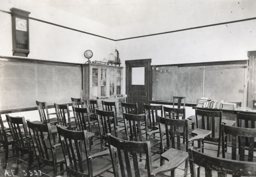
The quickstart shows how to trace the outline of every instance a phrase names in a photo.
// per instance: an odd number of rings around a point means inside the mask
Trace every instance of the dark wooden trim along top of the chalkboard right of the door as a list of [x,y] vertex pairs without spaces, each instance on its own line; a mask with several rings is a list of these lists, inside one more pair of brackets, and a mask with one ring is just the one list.
[[189,66],[212,66],[212,65],[247,65],[248,60],[230,60],[230,61],[218,61],[218,62],[198,62],[198,63],[181,63],[171,65],[151,65],[154,67],[163,66],[177,66],[177,67],[189,67]]

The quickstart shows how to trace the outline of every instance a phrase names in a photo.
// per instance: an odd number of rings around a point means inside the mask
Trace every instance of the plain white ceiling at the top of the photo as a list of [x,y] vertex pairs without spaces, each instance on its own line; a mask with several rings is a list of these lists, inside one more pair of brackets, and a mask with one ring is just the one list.
[[[34,0],[36,1],[36,0]],[[38,0],[81,17],[113,28],[148,22],[177,20],[239,20],[254,17],[249,8],[256,7],[256,0]],[[208,17],[208,18],[207,18]],[[176,24],[178,26],[178,24]]]

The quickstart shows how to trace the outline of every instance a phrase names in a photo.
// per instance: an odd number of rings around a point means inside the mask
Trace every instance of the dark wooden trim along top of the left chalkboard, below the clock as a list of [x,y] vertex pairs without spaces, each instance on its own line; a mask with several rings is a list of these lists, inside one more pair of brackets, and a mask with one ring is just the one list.
[[82,67],[81,63],[56,62],[56,61],[49,61],[49,60],[27,59],[27,58],[12,57],[12,56],[0,56],[0,61]]

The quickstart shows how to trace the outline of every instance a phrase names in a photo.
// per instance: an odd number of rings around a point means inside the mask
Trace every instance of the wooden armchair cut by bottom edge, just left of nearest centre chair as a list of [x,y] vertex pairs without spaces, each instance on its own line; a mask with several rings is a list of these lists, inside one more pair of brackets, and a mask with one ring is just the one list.
[[[95,177],[112,168],[109,150],[91,154],[87,131],[72,131],[57,126],[66,169],[74,177]],[[81,144],[83,146],[81,146]]]

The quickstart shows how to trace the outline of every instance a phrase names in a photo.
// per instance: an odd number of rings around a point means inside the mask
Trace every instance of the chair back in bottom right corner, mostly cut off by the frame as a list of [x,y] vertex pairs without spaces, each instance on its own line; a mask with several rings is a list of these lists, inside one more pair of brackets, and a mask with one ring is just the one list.
[[[196,177],[195,164],[204,167],[205,177],[215,176],[216,174],[212,174],[212,171],[218,172],[218,177],[225,177],[227,174],[236,177],[256,176],[256,163],[212,157],[191,148],[188,151],[191,177]],[[200,174],[197,176],[200,177]]]

